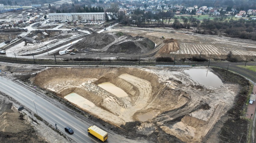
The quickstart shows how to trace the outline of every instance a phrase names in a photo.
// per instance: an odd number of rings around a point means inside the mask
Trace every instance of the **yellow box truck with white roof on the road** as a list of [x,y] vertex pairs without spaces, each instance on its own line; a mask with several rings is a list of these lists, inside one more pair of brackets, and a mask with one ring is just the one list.
[[87,129],[87,132],[101,140],[102,142],[105,142],[108,139],[108,133],[104,130],[100,129],[99,127],[93,125]]

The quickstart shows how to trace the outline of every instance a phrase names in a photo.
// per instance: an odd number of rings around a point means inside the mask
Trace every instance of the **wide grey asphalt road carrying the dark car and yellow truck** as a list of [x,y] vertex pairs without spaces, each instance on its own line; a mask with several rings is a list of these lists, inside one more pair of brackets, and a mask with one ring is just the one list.
[[[87,143],[87,142],[101,142],[96,137],[89,135],[87,133],[87,128],[92,124],[87,123],[81,119],[77,119],[66,111],[56,107],[52,103],[48,102],[44,98],[38,96],[38,94],[28,90],[27,88],[12,82],[8,79],[5,79],[0,76],[0,91],[11,96],[25,107],[32,110],[34,113],[38,113],[40,117],[46,120],[48,123],[55,126],[57,124],[57,128],[73,139],[78,143]],[[35,100],[35,104],[33,102]],[[35,109],[36,108],[36,109]],[[74,130],[74,134],[67,133],[64,128],[69,126]],[[102,127],[101,127],[102,128]],[[129,140],[120,136],[114,132],[111,132],[108,129],[103,130],[108,132],[108,140],[106,142],[137,142],[133,140]]]

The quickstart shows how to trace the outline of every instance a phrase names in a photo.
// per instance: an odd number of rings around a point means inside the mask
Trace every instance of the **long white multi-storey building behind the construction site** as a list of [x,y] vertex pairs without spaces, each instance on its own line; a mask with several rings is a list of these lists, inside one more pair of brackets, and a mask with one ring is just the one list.
[[73,21],[73,20],[101,20],[105,19],[105,13],[49,13],[50,21]]

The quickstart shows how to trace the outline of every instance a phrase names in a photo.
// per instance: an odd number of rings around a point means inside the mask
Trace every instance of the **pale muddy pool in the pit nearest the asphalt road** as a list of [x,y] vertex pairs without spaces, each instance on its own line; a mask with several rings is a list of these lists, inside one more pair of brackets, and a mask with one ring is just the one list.
[[94,107],[95,104],[93,102],[90,102],[89,100],[85,99],[84,97],[76,94],[76,93],[69,93],[68,95],[64,96],[65,99],[67,99],[69,102],[72,102],[74,104],[77,104],[81,108],[86,109],[87,107]]

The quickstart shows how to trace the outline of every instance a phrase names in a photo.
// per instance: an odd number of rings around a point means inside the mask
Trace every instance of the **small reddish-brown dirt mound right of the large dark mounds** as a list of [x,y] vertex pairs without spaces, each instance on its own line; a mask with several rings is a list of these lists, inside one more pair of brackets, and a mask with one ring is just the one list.
[[175,52],[175,51],[178,51],[180,49],[178,41],[176,39],[172,39],[172,38],[171,39],[165,39],[165,40],[163,40],[163,43],[165,43],[165,44],[156,53],[155,57],[170,56],[170,52]]

